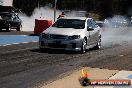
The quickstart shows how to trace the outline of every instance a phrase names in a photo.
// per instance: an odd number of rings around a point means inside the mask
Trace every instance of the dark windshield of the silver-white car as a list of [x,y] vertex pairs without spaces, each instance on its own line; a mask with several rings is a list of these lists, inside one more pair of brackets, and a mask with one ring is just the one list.
[[83,29],[85,27],[85,20],[80,20],[80,19],[59,19],[53,24],[52,27]]

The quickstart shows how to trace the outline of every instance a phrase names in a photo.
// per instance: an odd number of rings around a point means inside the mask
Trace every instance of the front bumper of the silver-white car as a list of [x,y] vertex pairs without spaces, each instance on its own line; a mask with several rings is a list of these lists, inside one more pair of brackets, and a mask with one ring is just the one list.
[[40,48],[80,51],[81,46],[82,46],[82,39],[74,39],[74,40],[43,39],[43,38],[39,39]]

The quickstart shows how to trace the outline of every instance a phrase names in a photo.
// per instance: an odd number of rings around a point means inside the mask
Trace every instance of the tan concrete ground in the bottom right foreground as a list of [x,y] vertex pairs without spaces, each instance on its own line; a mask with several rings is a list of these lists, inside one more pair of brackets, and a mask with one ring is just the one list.
[[[118,71],[99,68],[85,68],[90,79],[130,79],[132,71]],[[47,85],[41,84],[35,88],[132,88],[132,86],[87,86],[82,87],[78,81],[81,70],[76,70],[72,74],[50,82]],[[132,81],[132,79],[130,79]],[[40,87],[41,86],[41,87]]]

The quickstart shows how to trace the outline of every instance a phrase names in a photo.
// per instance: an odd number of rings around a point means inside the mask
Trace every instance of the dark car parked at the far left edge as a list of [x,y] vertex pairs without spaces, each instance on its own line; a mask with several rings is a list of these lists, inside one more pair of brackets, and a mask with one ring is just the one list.
[[14,12],[0,12],[0,30],[16,29],[20,31],[22,28],[22,21],[19,16]]

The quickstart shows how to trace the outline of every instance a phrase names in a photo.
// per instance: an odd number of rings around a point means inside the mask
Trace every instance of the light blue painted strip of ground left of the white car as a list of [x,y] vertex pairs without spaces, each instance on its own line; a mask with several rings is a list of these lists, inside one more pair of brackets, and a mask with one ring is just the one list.
[[8,46],[12,44],[37,42],[38,36],[28,35],[0,35],[0,46]]

